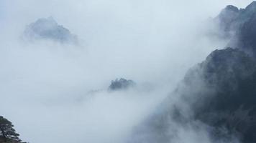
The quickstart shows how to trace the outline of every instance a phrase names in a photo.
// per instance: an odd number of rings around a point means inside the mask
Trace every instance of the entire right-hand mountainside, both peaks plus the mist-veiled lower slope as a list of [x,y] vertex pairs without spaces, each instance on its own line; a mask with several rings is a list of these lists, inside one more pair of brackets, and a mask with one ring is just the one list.
[[255,1],[221,11],[216,24],[231,47],[189,69],[155,114],[134,129],[131,142],[189,142],[180,134],[198,142],[256,142],[255,17]]

